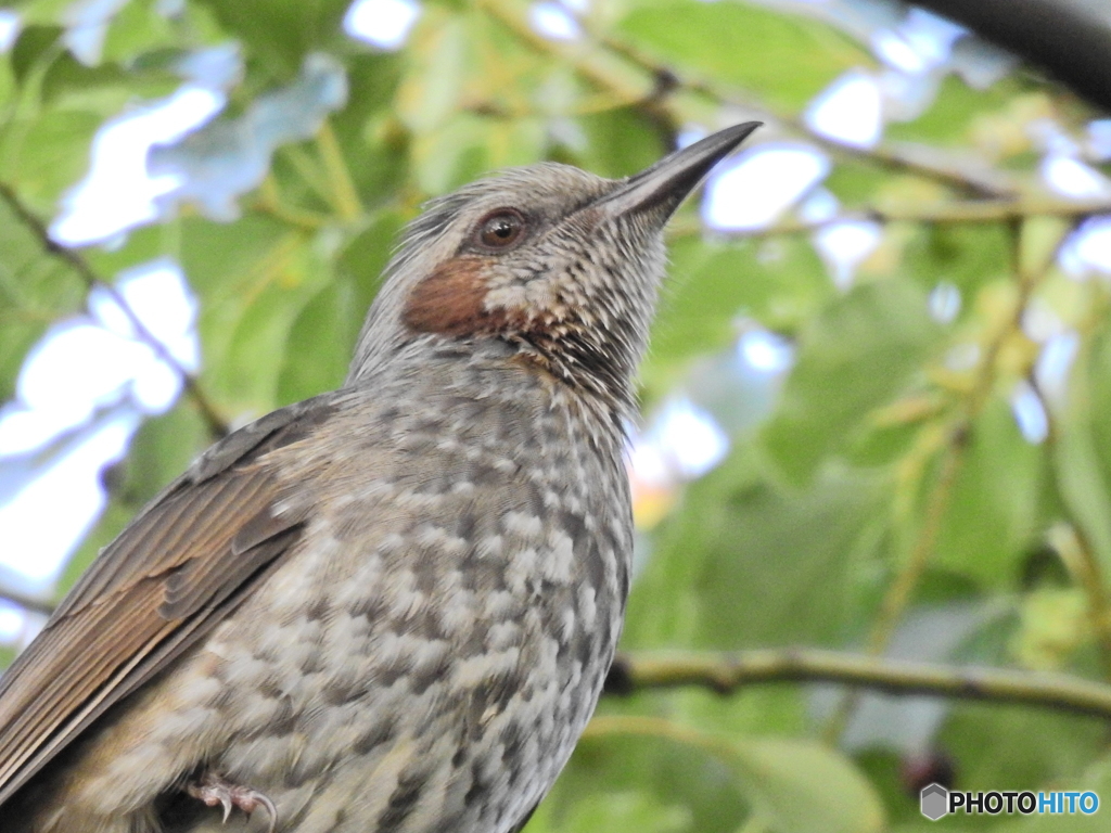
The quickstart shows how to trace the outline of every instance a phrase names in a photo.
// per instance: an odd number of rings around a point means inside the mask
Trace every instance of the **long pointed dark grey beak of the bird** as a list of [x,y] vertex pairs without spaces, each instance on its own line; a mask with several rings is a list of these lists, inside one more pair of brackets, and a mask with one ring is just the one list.
[[664,157],[648,170],[633,174],[593,208],[609,217],[652,212],[662,225],[687,195],[718,162],[724,159],[762,122],[748,121],[719,130],[682,150]]

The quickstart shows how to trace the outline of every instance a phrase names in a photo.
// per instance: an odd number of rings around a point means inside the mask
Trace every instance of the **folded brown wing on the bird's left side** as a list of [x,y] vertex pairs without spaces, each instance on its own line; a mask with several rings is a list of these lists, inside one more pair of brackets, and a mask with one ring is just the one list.
[[0,804],[294,545],[308,512],[272,511],[284,491],[264,455],[311,434],[334,400],[276,411],[214,445],[93,562],[0,676]]

